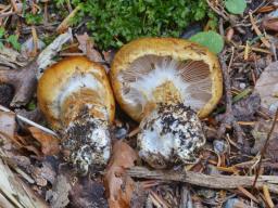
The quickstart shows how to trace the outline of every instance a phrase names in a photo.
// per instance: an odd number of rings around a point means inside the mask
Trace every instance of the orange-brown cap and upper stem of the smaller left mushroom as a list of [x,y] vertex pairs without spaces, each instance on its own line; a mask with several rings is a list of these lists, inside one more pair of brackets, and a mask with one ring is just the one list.
[[67,57],[49,67],[37,94],[39,107],[54,129],[67,126],[85,105],[90,105],[96,117],[104,118],[106,113],[106,120],[114,119],[115,103],[105,69],[84,56]]

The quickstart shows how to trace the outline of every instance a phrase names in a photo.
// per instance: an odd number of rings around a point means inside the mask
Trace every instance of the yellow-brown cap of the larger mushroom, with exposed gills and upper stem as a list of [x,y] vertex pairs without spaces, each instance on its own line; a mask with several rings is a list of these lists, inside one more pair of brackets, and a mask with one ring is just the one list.
[[[170,70],[175,75],[167,77],[167,67],[175,68]],[[160,79],[166,81],[153,89]],[[204,47],[176,38],[141,38],[127,43],[113,60],[111,81],[121,107],[137,121],[155,103],[178,101],[203,118],[223,93],[217,56]]]

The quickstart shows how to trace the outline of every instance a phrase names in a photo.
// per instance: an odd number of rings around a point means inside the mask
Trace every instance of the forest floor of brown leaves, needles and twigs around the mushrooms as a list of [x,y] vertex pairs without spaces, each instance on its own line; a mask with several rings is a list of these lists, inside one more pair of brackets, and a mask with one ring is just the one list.
[[[109,73],[116,50],[99,50],[84,25],[71,26],[71,3],[53,17],[51,1],[31,2],[28,20],[21,1],[0,2],[0,207],[278,207],[276,1],[248,1],[243,14],[231,15],[207,0],[225,41],[224,94],[202,120],[206,144],[194,164],[151,169],[136,152],[138,123],[117,106],[110,164],[86,177],[64,161],[37,106],[38,77],[54,60],[76,55]],[[185,34],[195,32],[192,25]]]

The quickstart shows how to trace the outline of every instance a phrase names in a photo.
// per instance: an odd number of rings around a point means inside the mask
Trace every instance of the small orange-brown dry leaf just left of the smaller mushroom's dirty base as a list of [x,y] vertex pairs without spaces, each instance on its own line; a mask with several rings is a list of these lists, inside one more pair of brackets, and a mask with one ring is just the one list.
[[59,140],[55,136],[46,133],[36,127],[29,127],[28,129],[31,135],[41,144],[41,152],[45,155],[55,155],[59,153]]

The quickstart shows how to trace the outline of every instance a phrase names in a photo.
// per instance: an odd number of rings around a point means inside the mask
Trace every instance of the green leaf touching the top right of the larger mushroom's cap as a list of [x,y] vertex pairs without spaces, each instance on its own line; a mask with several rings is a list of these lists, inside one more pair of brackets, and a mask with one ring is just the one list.
[[208,50],[214,53],[219,53],[224,48],[223,37],[212,30],[198,32],[197,35],[192,36],[190,40],[208,48]]

